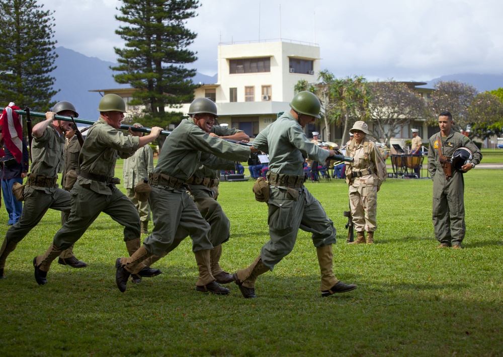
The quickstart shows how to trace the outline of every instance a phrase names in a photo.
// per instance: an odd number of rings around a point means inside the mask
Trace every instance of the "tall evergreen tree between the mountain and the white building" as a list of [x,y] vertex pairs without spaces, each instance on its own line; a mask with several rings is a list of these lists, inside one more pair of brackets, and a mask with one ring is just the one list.
[[164,108],[179,108],[194,98],[196,85],[191,78],[195,69],[186,68],[197,57],[187,47],[196,34],[185,25],[197,16],[197,0],[122,0],[121,16],[126,23],[116,30],[126,41],[126,48],[114,48],[121,73],[114,75],[118,83],[137,88],[131,105],[145,106],[148,126],[165,127],[179,122],[181,113],[166,113]]

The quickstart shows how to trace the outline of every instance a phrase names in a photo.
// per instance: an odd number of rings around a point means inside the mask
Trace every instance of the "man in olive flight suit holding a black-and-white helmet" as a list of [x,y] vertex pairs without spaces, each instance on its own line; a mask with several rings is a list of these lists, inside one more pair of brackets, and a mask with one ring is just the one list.
[[468,137],[452,129],[454,121],[449,112],[439,116],[440,133],[430,137],[428,171],[433,180],[433,226],[437,248],[461,248],[465,237],[465,205],[463,173],[451,168],[446,158],[452,157],[456,149],[466,147],[473,153],[471,163],[463,165],[468,172],[480,163],[482,154]]

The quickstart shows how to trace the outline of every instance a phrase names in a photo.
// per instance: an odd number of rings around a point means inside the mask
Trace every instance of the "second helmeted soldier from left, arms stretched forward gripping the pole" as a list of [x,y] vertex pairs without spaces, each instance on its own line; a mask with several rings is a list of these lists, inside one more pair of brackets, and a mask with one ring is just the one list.
[[[126,105],[115,94],[103,96],[98,110],[100,119],[89,129],[80,150],[80,171],[70,194],[70,216],[45,254],[33,259],[35,280],[39,285],[47,283],[51,262],[61,254],[61,250],[75,243],[101,212],[124,226],[124,241],[130,254],[140,246],[140,216],[133,203],[115,187],[119,180],[112,176],[117,156],[131,156],[138,147],[155,140],[162,128],[153,127],[149,135],[141,138],[125,136],[117,129],[121,127]],[[144,265],[143,268],[144,276],[155,275],[151,269]]]

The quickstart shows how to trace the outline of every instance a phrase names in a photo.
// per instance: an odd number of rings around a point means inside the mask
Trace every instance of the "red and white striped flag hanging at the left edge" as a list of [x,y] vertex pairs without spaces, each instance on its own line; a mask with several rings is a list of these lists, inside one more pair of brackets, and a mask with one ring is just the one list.
[[2,125],[2,134],[4,134],[5,146],[12,152],[16,161],[21,162],[23,158],[23,122],[21,116],[14,110],[21,109],[16,107],[13,102],[5,107],[0,116]]

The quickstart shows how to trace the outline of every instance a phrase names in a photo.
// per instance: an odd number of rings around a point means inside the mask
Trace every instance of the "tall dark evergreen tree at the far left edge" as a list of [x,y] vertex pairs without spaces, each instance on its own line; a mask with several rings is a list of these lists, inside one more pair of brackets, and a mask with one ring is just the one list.
[[55,102],[54,18],[36,0],[0,0],[0,70],[14,74],[0,77],[0,107],[9,102],[44,112]]

